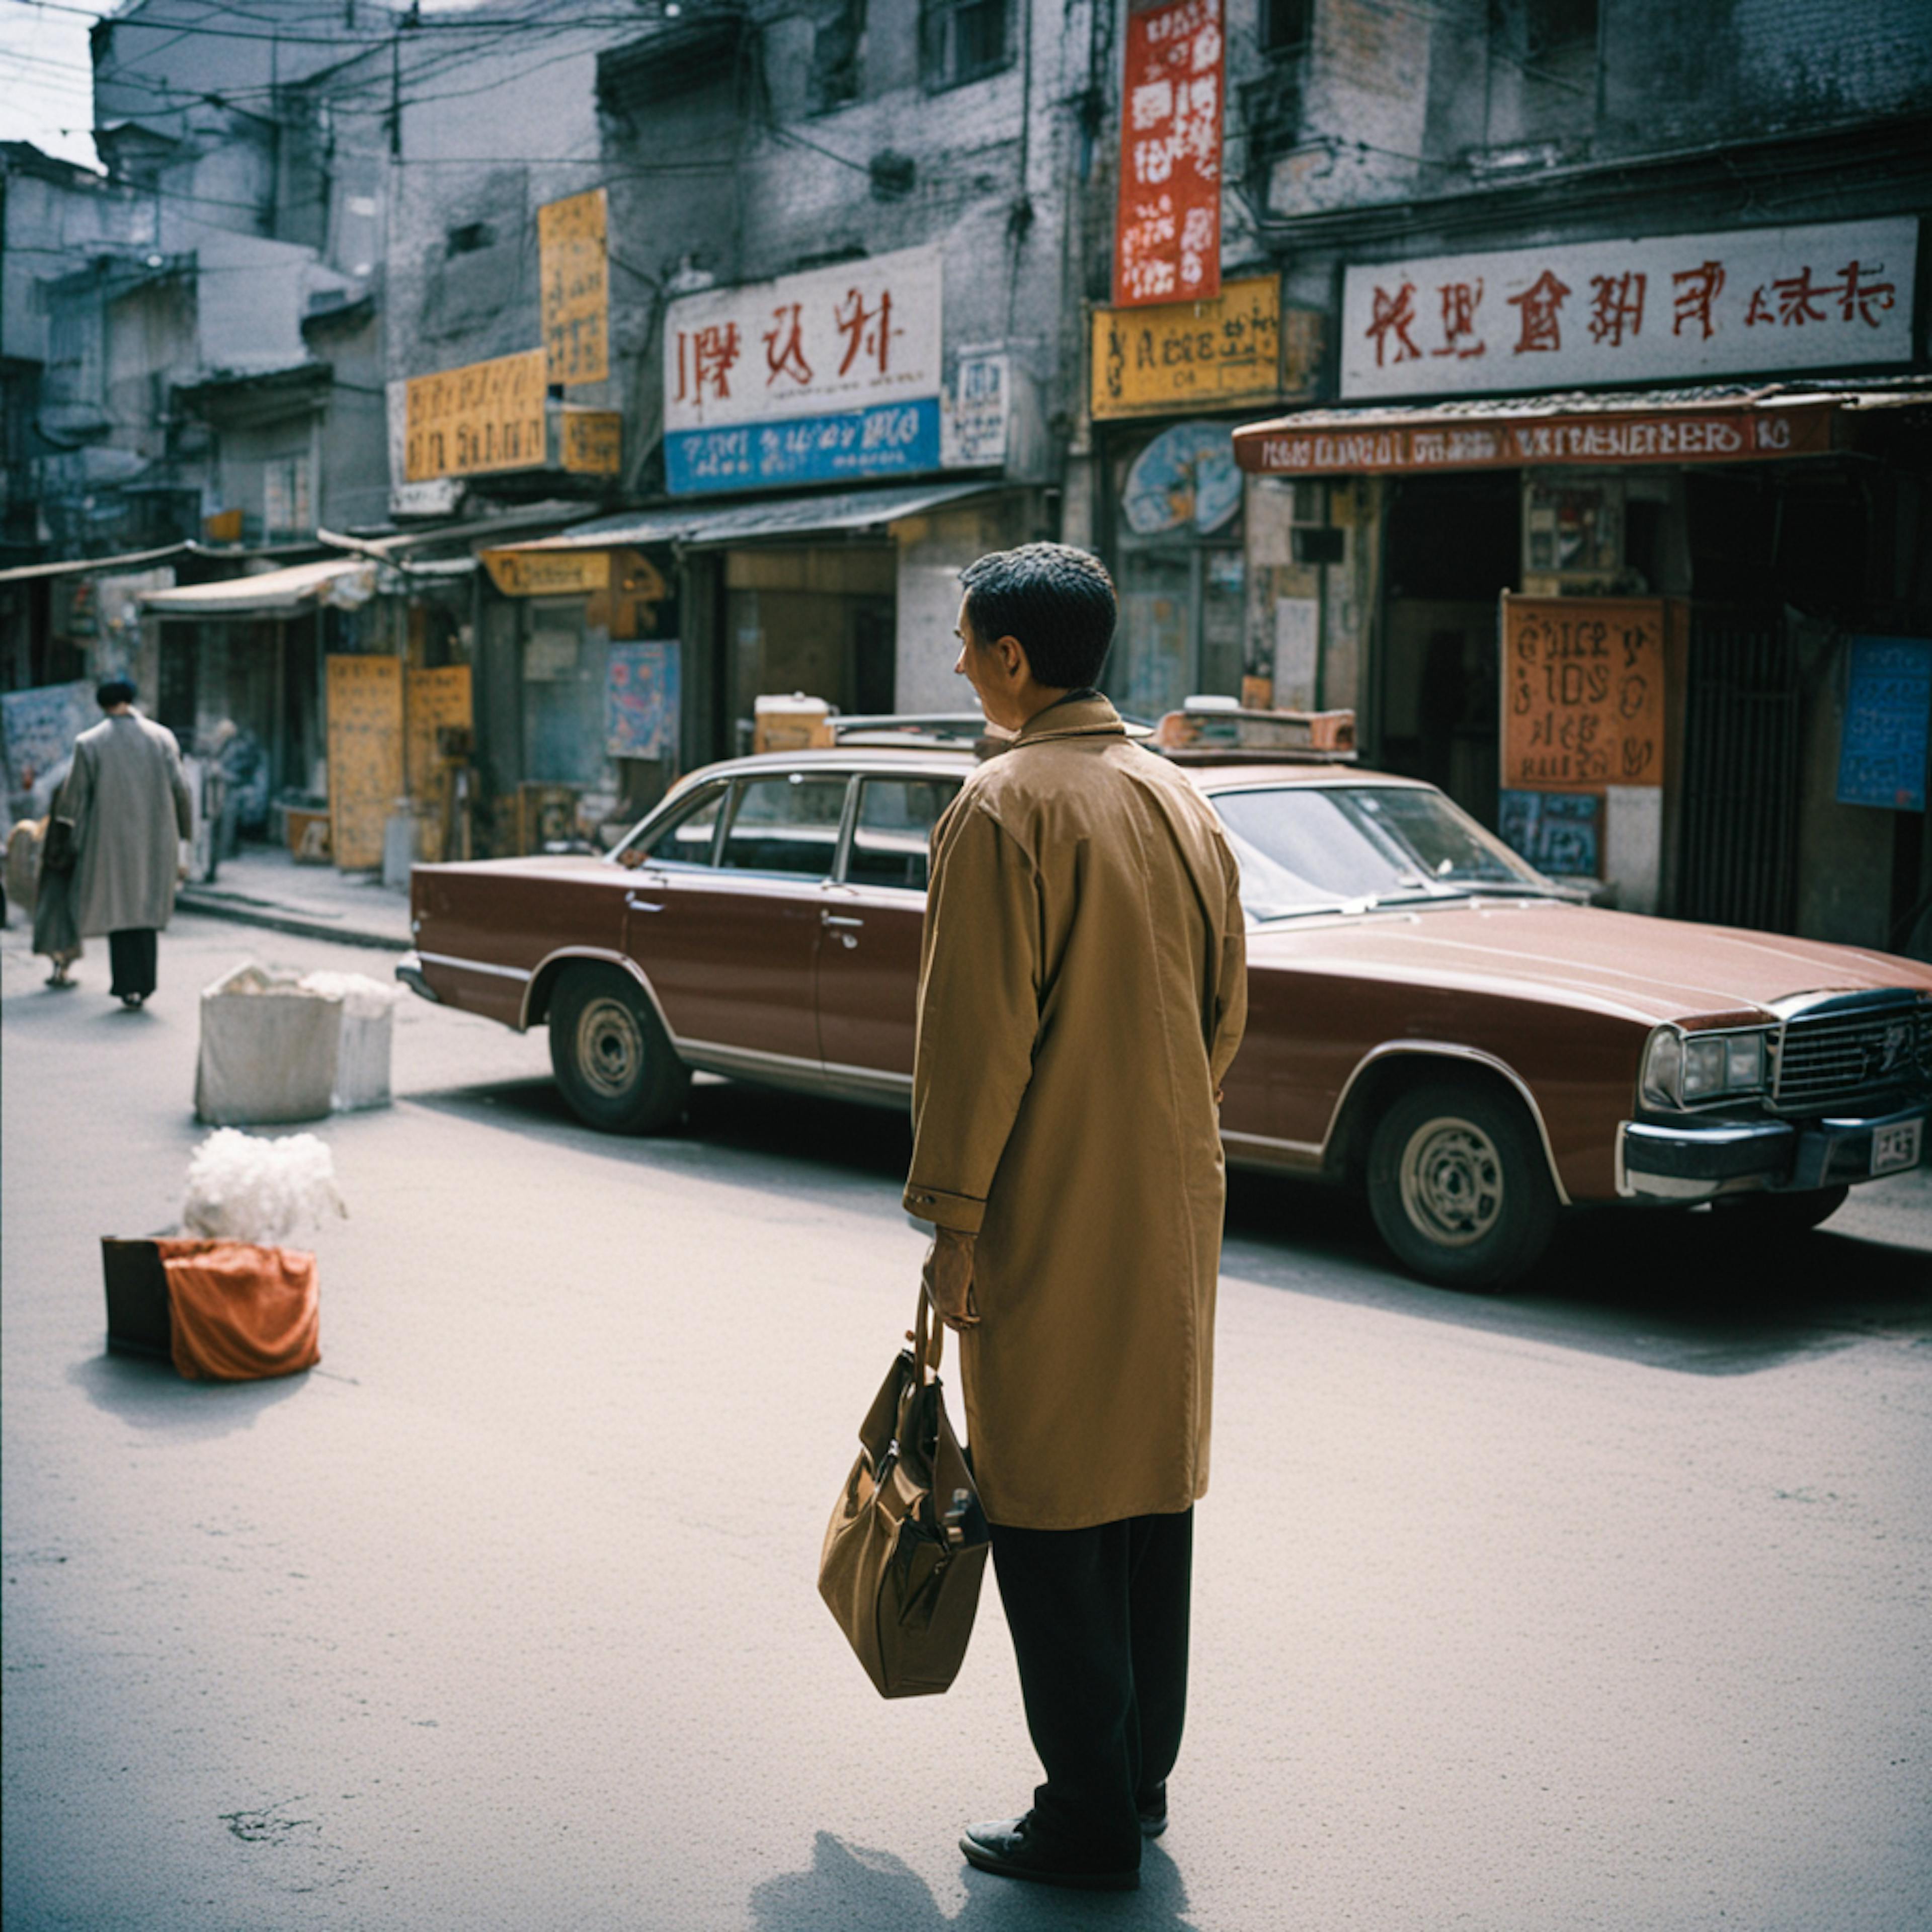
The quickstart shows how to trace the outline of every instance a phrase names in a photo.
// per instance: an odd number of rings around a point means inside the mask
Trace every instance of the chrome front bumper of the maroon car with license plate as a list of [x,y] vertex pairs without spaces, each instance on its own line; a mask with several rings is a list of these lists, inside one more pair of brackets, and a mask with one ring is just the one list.
[[[1625,1121],[1617,1128],[1617,1192],[1638,1200],[1704,1202],[1764,1188],[1804,1192],[1907,1173],[1932,1148],[1932,1105],[1824,1121],[1712,1121],[1660,1126]],[[1917,1159],[1872,1173],[1872,1144],[1888,1128],[1918,1124]],[[1895,1134],[1891,1136],[1897,1138]]]

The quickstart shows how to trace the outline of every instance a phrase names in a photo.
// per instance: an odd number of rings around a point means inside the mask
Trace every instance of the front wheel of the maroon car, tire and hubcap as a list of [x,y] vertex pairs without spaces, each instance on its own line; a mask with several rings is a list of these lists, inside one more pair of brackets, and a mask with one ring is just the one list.
[[1405,1267],[1445,1289],[1505,1289],[1557,1223],[1557,1192],[1522,1103],[1432,1080],[1389,1105],[1368,1146],[1368,1206]]

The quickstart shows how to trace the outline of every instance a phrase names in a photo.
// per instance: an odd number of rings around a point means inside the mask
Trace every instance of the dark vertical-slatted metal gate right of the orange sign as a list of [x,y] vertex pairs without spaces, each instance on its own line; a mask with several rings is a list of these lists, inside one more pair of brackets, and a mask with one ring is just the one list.
[[1799,672],[1783,612],[1692,609],[1677,912],[1789,933]]

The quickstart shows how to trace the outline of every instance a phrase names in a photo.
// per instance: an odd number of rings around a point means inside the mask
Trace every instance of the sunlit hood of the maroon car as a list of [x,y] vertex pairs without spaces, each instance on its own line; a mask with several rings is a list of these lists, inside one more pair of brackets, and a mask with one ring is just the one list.
[[1795,993],[1932,991],[1932,966],[1729,925],[1548,900],[1472,900],[1250,927],[1254,968],[1505,993],[1660,1020],[1756,1020]]

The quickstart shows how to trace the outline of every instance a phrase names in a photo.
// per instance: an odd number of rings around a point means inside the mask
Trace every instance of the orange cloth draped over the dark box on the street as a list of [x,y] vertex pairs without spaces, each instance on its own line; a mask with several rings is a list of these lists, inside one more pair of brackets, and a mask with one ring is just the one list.
[[189,1379],[294,1376],[323,1358],[315,1256],[245,1240],[156,1240],[168,1341]]

